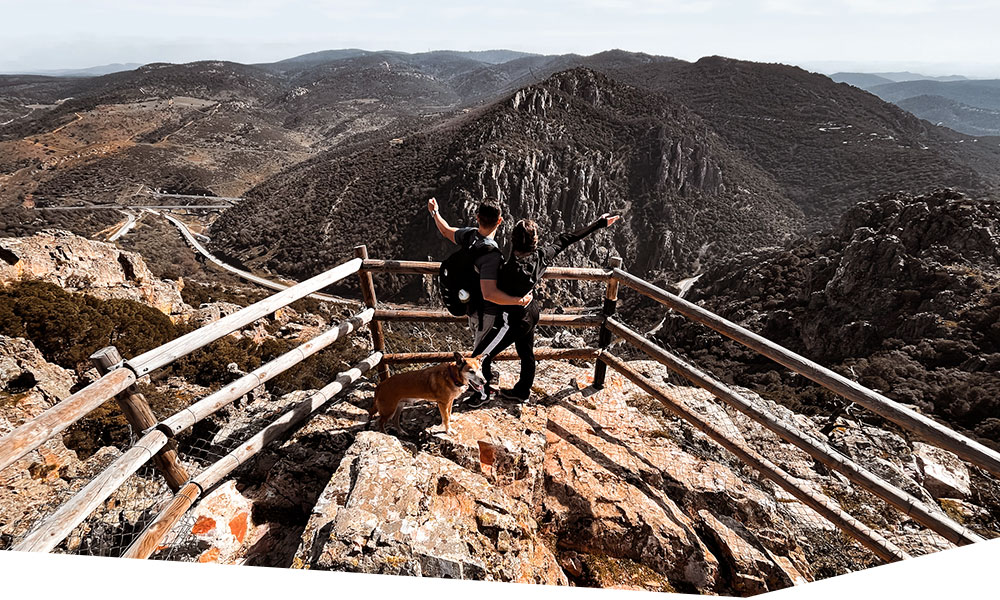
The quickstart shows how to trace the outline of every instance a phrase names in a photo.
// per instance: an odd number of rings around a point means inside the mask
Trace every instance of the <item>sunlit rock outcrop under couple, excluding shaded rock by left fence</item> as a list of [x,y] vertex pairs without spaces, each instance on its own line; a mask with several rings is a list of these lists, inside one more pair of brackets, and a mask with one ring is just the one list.
[[[633,364],[666,376],[658,364]],[[648,396],[630,384],[612,376],[595,395],[575,383],[588,377],[545,364],[541,402],[459,409],[449,436],[436,410],[414,406],[403,419],[422,430],[416,445],[359,434],[320,494],[294,564],[740,594],[857,567],[829,551],[832,524],[748,479],[702,434],[640,408]],[[814,491],[850,489],[704,392],[676,394]],[[911,542],[927,551],[941,540]]]

